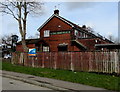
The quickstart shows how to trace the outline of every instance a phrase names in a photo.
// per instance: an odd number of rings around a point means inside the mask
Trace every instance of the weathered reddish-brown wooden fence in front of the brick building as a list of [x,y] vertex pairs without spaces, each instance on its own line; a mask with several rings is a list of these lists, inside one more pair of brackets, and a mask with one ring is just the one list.
[[120,52],[39,52],[36,57],[13,53],[12,63],[32,67],[120,74]]

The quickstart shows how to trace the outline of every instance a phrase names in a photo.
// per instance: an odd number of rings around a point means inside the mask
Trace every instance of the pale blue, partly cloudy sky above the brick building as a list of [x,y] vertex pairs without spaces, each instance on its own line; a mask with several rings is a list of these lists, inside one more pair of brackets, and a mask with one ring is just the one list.
[[[37,29],[52,16],[55,6],[60,16],[79,25],[87,25],[96,33],[108,37],[118,37],[118,2],[44,2],[43,13],[39,16],[28,16],[27,38],[38,33]],[[1,16],[1,15],[0,15]],[[13,17],[0,17],[0,35],[17,34],[18,24]]]

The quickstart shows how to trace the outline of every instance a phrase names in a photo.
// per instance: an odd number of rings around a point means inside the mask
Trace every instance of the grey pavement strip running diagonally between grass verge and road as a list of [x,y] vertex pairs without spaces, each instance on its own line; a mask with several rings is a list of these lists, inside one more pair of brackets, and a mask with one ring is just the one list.
[[16,72],[10,72],[10,71],[2,71],[1,74],[3,77],[20,80],[26,83],[34,84],[41,87],[50,88],[56,91],[62,91],[62,92],[82,92],[82,91],[105,91],[105,92],[113,92],[106,90],[104,88],[98,88],[98,87],[92,87],[88,85],[78,84],[78,83],[72,83],[62,80],[56,80],[56,79],[50,79],[45,77],[38,77],[33,76],[29,74],[23,74],[23,73],[16,73]]

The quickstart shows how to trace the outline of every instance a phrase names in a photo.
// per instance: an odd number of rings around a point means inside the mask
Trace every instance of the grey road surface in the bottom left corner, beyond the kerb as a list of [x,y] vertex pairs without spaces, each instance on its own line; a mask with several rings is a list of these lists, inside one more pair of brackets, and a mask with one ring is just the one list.
[[[1,77],[1,76],[0,76]],[[52,90],[22,81],[2,77],[2,90]]]

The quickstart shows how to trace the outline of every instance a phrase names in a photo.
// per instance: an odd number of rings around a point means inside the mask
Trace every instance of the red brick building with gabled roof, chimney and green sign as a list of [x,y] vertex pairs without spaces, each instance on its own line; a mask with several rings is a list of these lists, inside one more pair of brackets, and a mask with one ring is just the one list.
[[[39,39],[26,39],[29,48],[40,52],[53,51],[94,51],[96,44],[113,44],[99,34],[91,32],[85,25],[82,27],[59,16],[59,10],[38,28]],[[17,51],[23,51],[21,42],[17,43]]]

